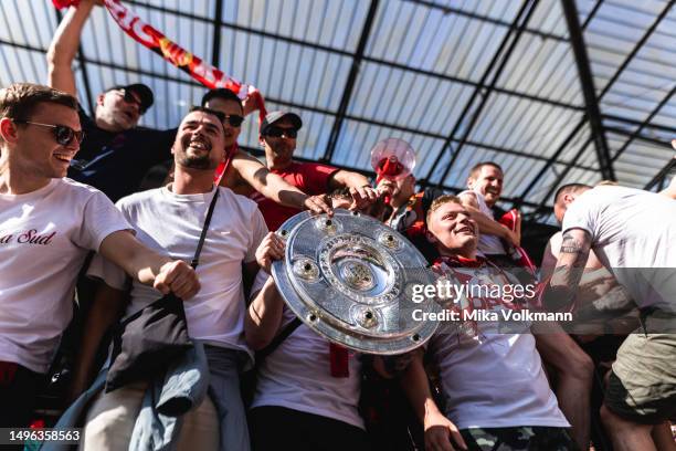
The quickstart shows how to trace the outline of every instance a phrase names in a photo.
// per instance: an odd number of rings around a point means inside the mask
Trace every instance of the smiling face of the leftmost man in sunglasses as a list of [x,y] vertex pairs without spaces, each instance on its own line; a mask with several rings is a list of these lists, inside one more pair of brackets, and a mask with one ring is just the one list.
[[[44,102],[38,105],[27,120],[50,125],[64,125],[82,130],[77,112],[65,105]],[[51,127],[25,124],[15,125],[17,140],[12,144],[12,158],[21,172],[40,179],[65,177],[80,144],[72,139],[67,145],[56,141]]]

